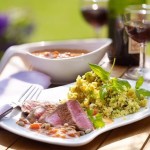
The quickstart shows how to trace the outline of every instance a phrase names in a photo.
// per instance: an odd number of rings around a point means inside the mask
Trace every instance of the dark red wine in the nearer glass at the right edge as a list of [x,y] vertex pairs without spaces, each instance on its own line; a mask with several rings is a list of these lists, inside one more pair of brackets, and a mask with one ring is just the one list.
[[150,41],[150,21],[131,21],[125,24],[128,35],[139,43]]

